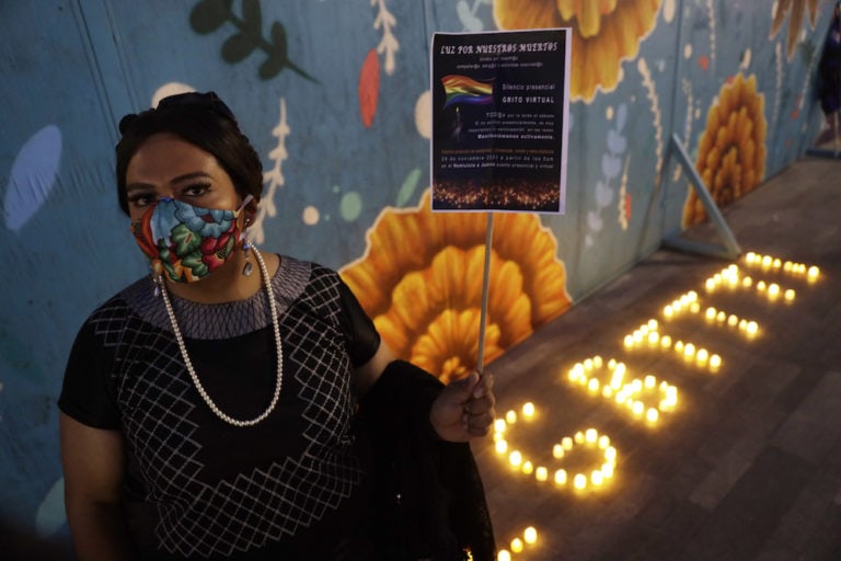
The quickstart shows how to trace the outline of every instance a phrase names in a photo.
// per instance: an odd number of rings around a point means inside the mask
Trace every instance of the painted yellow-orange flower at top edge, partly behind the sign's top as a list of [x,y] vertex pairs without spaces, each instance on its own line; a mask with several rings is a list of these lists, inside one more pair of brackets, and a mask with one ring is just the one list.
[[495,0],[500,30],[572,27],[569,98],[592,101],[597,89],[613,91],[623,60],[634,59],[640,43],[656,25],[663,0]]

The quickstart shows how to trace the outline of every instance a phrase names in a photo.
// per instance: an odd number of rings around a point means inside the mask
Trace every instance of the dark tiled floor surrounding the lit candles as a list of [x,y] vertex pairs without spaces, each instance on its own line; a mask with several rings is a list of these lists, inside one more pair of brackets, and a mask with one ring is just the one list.
[[[510,551],[527,527],[538,535],[511,559],[841,560],[841,161],[804,159],[724,214],[745,253],[816,265],[818,279],[749,266],[744,255],[660,250],[488,366],[499,415],[520,413],[506,454],[491,439],[474,448],[497,542]],[[707,226],[688,236],[717,242]],[[706,279],[731,263],[752,285],[707,291]],[[771,283],[781,287],[775,301]],[[665,306],[691,290],[700,311],[667,319]],[[707,320],[708,307],[756,321],[758,334]],[[649,319],[657,344],[646,335],[626,346]],[[684,358],[678,340],[718,354],[721,368]],[[675,386],[677,407],[652,423],[569,381],[571,368],[594,356],[603,365],[585,369],[590,378],[609,385],[614,358],[627,366],[625,379],[649,374]],[[660,391],[648,390],[647,407],[659,407]],[[526,402],[537,408],[532,420]],[[557,469],[572,479],[604,461],[586,439],[553,457],[563,436],[587,428],[610,438],[614,476],[584,491],[556,485]],[[511,467],[512,449],[545,467],[549,481]]]

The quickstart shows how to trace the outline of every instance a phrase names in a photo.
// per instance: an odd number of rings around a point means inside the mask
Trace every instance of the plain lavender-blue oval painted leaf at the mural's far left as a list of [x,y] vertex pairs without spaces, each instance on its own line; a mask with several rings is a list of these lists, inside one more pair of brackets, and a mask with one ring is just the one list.
[[3,218],[10,230],[20,230],[49,197],[61,159],[61,131],[49,125],[30,138],[12,163],[5,188]]

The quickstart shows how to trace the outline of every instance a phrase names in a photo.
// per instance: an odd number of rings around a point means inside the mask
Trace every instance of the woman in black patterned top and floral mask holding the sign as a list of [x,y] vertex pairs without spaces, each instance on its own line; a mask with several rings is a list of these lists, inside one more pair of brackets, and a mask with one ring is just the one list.
[[262,165],[216,94],[119,128],[117,196],[152,272],[68,360],[79,558],[492,558],[466,444],[493,422],[491,377],[443,388],[393,359],[335,272],[247,242]]

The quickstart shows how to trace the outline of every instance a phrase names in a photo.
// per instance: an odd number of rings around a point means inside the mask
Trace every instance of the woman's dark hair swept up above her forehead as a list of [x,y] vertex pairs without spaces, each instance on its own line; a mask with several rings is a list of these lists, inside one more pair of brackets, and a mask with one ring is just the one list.
[[260,201],[263,163],[242,134],[231,110],[214,92],[182,93],[162,99],[157,107],[128,114],[119,122],[117,142],[117,199],[128,214],[126,171],[128,162],[152,135],[171,133],[212,154],[231,178],[237,193]]

